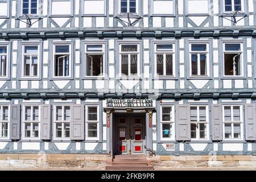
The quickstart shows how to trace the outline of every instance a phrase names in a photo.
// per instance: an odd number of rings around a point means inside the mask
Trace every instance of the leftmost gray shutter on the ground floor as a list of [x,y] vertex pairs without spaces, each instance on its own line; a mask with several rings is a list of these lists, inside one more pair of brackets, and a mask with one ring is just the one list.
[[10,106],[10,139],[20,139],[20,105],[13,104]]

